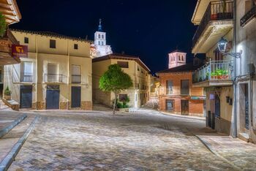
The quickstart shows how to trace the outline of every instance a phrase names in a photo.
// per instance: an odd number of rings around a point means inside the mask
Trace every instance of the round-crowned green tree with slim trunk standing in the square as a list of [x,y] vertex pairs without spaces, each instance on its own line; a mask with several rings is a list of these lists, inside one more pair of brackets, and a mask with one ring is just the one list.
[[121,91],[132,87],[132,85],[131,77],[129,77],[127,73],[123,72],[118,64],[108,66],[108,71],[105,72],[102,77],[100,77],[99,89],[102,91],[113,92],[113,94],[115,94],[113,115],[115,115],[118,95],[121,93]]

